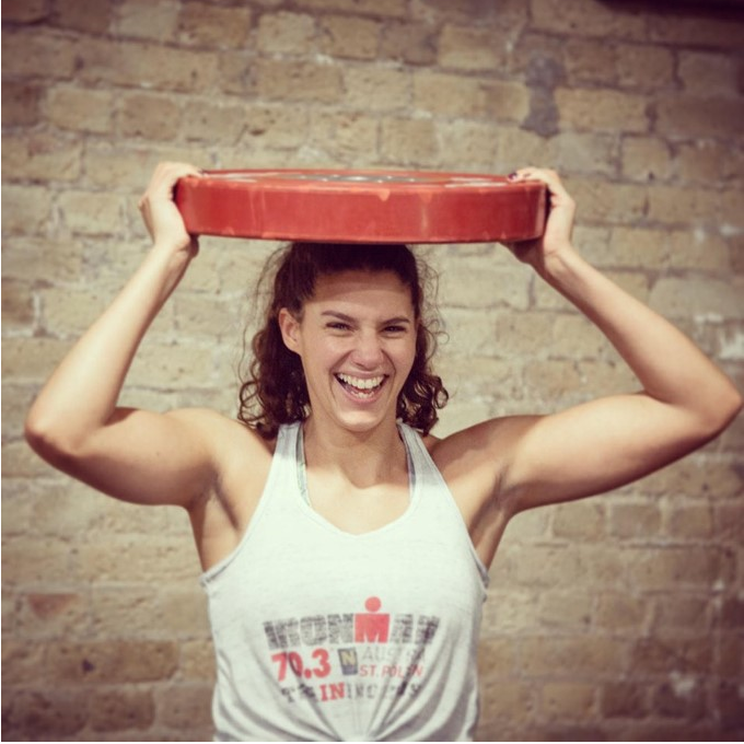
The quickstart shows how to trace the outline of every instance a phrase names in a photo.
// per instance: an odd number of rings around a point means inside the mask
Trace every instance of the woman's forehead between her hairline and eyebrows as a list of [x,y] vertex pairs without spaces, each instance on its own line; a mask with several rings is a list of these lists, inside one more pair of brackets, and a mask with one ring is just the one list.
[[349,270],[322,275],[307,304],[414,312],[410,288],[394,271]]

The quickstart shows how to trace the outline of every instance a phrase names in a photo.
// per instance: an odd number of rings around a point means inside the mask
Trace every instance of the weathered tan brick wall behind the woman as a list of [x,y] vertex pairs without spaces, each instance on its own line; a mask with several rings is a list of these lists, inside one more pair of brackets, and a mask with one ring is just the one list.
[[[744,20],[699,4],[5,0],[4,739],[211,736],[186,518],[96,495],[21,434],[147,251],[136,200],[159,160],[555,166],[582,252],[742,380]],[[202,240],[127,404],[235,410],[270,247]],[[451,336],[440,433],[633,385],[503,248],[426,253]],[[486,606],[480,739],[744,734],[743,440],[740,420],[641,483],[514,521]]]

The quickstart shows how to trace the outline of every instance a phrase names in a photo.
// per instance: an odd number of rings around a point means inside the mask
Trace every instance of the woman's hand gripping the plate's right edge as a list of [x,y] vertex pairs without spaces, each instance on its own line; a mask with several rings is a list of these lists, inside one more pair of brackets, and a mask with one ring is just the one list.
[[504,245],[538,274],[544,275],[546,264],[567,251],[573,251],[571,233],[576,201],[566,190],[555,171],[537,167],[520,168],[509,176],[512,184],[524,181],[542,181],[548,188],[548,219],[543,235],[530,241],[504,243]]

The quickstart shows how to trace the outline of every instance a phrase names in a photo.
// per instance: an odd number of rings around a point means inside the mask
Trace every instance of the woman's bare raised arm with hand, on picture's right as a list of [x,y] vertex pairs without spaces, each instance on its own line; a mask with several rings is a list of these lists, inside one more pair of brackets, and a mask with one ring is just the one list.
[[555,173],[516,177],[544,181],[551,211],[542,240],[510,247],[600,328],[640,386],[498,427],[510,453],[501,492],[521,510],[616,488],[684,456],[729,425],[742,397],[684,334],[577,254],[574,204]]

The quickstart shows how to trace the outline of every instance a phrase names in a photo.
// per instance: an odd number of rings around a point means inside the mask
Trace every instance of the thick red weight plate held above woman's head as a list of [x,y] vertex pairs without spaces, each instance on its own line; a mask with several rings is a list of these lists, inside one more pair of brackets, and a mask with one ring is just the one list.
[[208,171],[182,178],[194,234],[358,243],[480,243],[543,233],[546,189],[421,171]]

